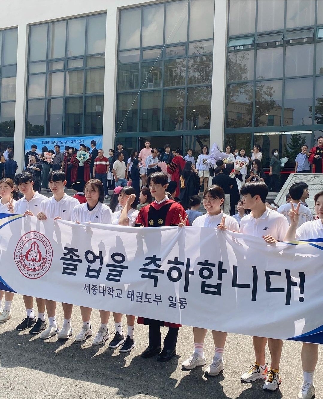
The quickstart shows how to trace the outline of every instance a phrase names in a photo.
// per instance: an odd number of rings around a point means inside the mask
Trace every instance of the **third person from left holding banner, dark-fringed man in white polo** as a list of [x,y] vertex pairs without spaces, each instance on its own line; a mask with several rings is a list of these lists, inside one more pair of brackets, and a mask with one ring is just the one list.
[[[48,175],[48,185],[53,193],[51,198],[46,198],[40,204],[40,212],[37,213],[38,220],[63,219],[71,221],[72,211],[79,205],[77,199],[69,197],[64,192],[66,185],[65,174],[61,170],[52,170]],[[59,339],[67,339],[73,334],[71,328],[72,304],[63,303],[64,323],[60,330],[56,322],[56,302],[46,299],[46,310],[49,320],[49,327],[40,334],[42,340],[58,334]]]

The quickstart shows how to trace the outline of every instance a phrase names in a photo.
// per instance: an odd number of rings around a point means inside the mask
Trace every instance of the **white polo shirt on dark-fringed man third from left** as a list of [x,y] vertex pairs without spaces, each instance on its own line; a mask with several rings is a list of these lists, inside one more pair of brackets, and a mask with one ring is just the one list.
[[76,198],[64,194],[60,201],[56,201],[54,196],[44,199],[40,204],[39,211],[44,212],[49,219],[60,216],[63,220],[71,221],[72,211],[77,205],[79,205],[79,201]]

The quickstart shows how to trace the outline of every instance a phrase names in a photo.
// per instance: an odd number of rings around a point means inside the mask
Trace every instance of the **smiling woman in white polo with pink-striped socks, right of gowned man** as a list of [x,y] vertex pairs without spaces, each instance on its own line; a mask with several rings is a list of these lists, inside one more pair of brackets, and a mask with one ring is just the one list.
[[[197,217],[192,226],[196,227],[214,227],[220,230],[239,231],[238,222],[229,215],[221,211],[221,205],[224,203],[224,191],[220,186],[210,186],[206,188],[203,198],[203,206],[206,209],[206,215]],[[187,217],[187,216],[186,216]],[[183,227],[183,223],[179,223]],[[194,352],[193,356],[182,363],[182,367],[187,370],[194,369],[197,366],[204,366],[206,358],[204,356],[203,345],[206,336],[206,328],[193,327],[194,334]],[[226,332],[212,331],[215,354],[212,363],[205,370],[206,375],[218,375],[223,369],[223,351],[226,343]]]

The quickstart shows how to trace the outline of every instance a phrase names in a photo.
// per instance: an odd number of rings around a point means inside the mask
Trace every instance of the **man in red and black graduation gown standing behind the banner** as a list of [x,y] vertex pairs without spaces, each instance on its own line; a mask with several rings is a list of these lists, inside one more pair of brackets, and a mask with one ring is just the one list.
[[[136,224],[140,224],[143,227],[161,227],[172,224],[178,225],[180,223],[180,216],[182,220],[185,219],[186,213],[182,205],[165,196],[165,191],[168,187],[168,178],[164,173],[155,172],[148,176],[147,185],[149,186],[151,195],[155,197],[155,201],[140,209]],[[188,225],[187,221],[186,224]],[[142,358],[151,358],[158,354],[158,361],[167,361],[176,355],[176,342],[180,324],[143,317],[138,317],[138,323],[149,325],[149,345],[141,354]],[[164,348],[161,350],[162,326],[168,327],[168,333],[164,339]]]

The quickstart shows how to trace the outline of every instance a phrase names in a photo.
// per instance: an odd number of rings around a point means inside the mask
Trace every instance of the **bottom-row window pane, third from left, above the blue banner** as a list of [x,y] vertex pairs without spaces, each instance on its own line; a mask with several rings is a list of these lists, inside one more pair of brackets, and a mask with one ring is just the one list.
[[65,99],[65,135],[82,134],[83,97]]

